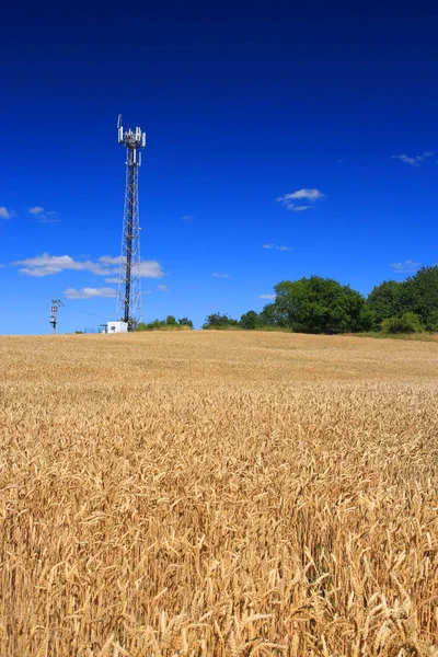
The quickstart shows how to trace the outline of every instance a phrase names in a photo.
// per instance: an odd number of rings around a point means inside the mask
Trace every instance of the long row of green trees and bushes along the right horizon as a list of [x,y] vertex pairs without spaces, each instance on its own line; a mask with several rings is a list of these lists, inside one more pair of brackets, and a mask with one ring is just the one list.
[[422,267],[404,281],[385,280],[365,298],[332,278],[283,280],[261,312],[240,320],[207,316],[203,328],[290,330],[296,333],[414,333],[438,331],[438,266]]

